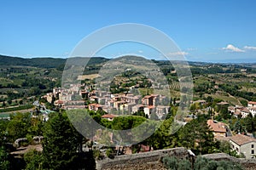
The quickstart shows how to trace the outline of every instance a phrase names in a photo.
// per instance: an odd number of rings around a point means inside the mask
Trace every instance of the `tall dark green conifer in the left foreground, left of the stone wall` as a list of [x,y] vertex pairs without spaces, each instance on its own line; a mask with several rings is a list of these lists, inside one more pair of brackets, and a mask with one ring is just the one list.
[[45,124],[44,168],[73,169],[79,141],[66,114],[55,113]]

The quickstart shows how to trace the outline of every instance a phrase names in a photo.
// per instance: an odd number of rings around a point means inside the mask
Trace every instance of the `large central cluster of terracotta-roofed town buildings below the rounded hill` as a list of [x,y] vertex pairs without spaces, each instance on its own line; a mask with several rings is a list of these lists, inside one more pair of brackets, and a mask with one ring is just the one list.
[[[84,88],[85,87],[85,88]],[[111,94],[101,90],[89,90],[88,86],[71,85],[70,88],[54,88],[52,93],[43,96],[49,103],[62,109],[89,109],[90,111],[105,111],[113,115],[131,115],[143,111],[150,118],[154,113],[159,119],[169,111],[168,98],[160,94],[146,96],[126,94]],[[76,99],[74,96],[81,96]]]

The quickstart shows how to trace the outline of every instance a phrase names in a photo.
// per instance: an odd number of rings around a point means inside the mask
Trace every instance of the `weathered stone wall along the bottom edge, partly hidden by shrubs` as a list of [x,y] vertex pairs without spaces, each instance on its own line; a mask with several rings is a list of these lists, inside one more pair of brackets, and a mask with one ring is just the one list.
[[[172,148],[167,150],[155,150],[145,153],[116,156],[114,159],[105,159],[96,161],[97,170],[166,170],[161,163],[161,158],[164,156],[176,156],[180,159],[189,158],[191,153],[188,150],[181,148]],[[247,170],[256,169],[256,159],[238,159],[224,153],[208,154],[204,157],[216,161],[234,161],[240,163]]]

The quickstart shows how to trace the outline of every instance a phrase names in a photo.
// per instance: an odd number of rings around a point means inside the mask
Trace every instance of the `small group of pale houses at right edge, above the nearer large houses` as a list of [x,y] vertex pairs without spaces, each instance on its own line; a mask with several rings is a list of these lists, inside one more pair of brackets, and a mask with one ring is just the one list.
[[252,116],[256,115],[256,102],[249,101],[247,103],[247,107],[236,105],[236,106],[229,106],[228,110],[236,117],[241,116],[241,118],[247,117],[249,114]]

